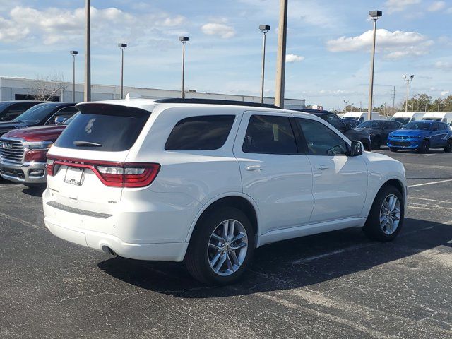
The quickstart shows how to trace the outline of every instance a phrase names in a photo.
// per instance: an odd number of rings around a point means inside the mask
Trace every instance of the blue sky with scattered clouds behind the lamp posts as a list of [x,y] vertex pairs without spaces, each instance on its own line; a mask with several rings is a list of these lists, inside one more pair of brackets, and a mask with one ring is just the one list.
[[[0,0],[0,75],[83,82],[83,0]],[[267,34],[265,95],[275,90],[279,0],[92,0],[92,83],[117,85],[126,42],[124,85],[180,88],[182,44],[191,90],[259,95],[262,33]],[[285,97],[343,109],[367,108],[371,10],[377,21],[374,104],[410,93],[452,93],[452,0],[289,0]]]

